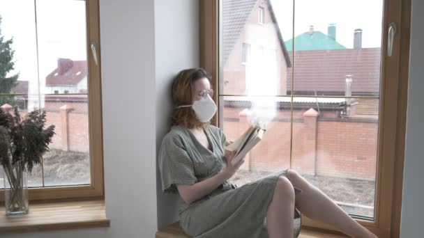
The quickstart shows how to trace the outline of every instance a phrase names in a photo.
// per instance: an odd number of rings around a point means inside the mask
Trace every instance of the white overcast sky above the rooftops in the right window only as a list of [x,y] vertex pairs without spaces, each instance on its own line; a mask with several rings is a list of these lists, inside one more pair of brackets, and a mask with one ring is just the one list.
[[[282,38],[293,38],[293,1],[271,0]],[[327,34],[336,24],[336,40],[347,48],[354,46],[354,30],[363,30],[362,46],[381,47],[383,0],[295,0],[294,35],[309,31]],[[296,42],[295,42],[296,44]]]

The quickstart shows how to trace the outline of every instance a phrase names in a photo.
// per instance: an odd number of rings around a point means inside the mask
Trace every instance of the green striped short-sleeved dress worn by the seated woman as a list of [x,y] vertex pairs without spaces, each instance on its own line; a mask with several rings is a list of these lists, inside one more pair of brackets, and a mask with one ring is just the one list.
[[[178,193],[176,184],[195,184],[225,168],[225,135],[218,127],[205,128],[211,150],[197,141],[185,127],[174,126],[160,146],[159,168],[162,190]],[[266,212],[279,176],[287,170],[268,175],[236,188],[230,182],[220,184],[208,196],[187,205],[179,197],[179,217],[183,230],[192,237],[249,238],[268,237]],[[294,188],[295,193],[301,192]],[[301,230],[301,214],[294,209],[294,237]]]

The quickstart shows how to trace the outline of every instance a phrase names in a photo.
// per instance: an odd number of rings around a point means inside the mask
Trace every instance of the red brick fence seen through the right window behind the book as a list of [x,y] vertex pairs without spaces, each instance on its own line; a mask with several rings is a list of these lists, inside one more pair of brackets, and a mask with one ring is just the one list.
[[[234,141],[248,127],[243,109],[225,107],[223,127]],[[294,111],[292,168],[301,173],[373,180],[377,162],[377,122],[304,117]],[[268,124],[264,139],[246,157],[243,168],[282,170],[290,166],[289,111],[280,111]],[[327,113],[326,117],[333,115]],[[339,120],[339,121],[338,121]]]

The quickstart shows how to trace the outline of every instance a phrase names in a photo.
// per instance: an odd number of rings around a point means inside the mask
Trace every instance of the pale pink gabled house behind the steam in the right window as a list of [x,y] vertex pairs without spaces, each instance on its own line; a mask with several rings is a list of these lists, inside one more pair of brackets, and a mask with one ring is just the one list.
[[223,93],[285,95],[291,63],[271,2],[223,1],[222,10]]

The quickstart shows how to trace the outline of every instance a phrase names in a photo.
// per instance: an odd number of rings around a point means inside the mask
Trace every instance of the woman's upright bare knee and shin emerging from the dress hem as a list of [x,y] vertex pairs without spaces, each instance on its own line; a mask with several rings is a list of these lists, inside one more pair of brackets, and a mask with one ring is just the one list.
[[270,238],[292,238],[294,217],[294,189],[287,177],[279,177],[273,200],[266,214]]

